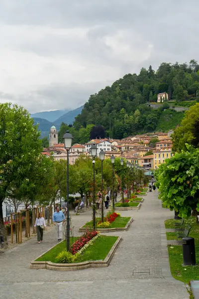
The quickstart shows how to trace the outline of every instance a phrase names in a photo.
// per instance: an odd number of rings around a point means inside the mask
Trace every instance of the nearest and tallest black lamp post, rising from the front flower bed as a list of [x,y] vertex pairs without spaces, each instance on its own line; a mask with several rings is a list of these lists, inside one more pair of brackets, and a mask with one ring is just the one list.
[[66,245],[67,251],[70,250],[70,215],[69,215],[69,150],[71,149],[73,136],[66,131],[63,136],[64,146],[67,151],[67,230],[66,230]]

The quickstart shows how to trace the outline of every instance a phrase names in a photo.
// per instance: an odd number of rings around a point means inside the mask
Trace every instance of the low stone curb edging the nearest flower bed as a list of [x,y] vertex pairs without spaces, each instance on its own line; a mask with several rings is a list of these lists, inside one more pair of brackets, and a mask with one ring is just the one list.
[[[88,268],[95,268],[95,267],[108,267],[110,264],[110,261],[114,255],[115,250],[117,249],[119,243],[121,242],[122,238],[118,237],[117,241],[114,243],[112,248],[110,249],[109,253],[107,254],[106,258],[102,261],[86,261],[82,263],[73,263],[73,264],[60,264],[60,263],[52,263],[52,262],[39,262],[39,261],[33,261],[31,262],[29,268],[30,269],[47,269],[47,270],[54,270],[54,271],[75,271],[75,270],[83,270]],[[55,245],[56,246],[56,245]],[[54,248],[53,246],[52,248]],[[49,250],[51,250],[50,248]],[[49,251],[48,250],[48,251]],[[46,251],[46,252],[48,252]],[[45,253],[46,253],[45,252]],[[44,255],[43,253],[42,255]],[[38,258],[40,258],[42,255],[40,255]],[[36,260],[38,259],[36,258]]]

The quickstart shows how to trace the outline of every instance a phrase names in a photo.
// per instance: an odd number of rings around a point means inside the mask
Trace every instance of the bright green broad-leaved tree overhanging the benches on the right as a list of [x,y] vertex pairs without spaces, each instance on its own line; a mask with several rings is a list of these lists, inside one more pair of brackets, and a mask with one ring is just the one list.
[[183,218],[199,211],[199,149],[188,149],[166,159],[155,171],[159,198]]

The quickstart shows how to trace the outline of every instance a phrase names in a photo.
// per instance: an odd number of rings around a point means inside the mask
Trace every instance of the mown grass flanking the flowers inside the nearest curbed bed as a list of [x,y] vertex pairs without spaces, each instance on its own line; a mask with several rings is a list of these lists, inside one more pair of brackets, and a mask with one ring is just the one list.
[[[89,246],[87,249],[85,249],[85,251],[83,251],[83,254],[75,262],[79,263],[85,261],[104,260],[108,252],[116,242],[117,238],[118,237],[115,236],[100,236],[93,243],[93,245]],[[50,261],[52,263],[56,263],[56,256],[64,249],[66,249],[65,241],[59,243],[57,246],[49,250],[40,259],[37,259],[36,261]]]

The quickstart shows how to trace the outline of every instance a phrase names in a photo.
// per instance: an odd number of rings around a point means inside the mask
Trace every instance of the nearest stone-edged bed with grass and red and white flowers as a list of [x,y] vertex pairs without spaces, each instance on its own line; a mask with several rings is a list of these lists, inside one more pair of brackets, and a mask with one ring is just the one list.
[[[71,241],[72,238],[70,238],[70,243]],[[80,254],[82,248],[75,255],[66,251],[66,243],[62,241],[31,262],[30,268],[71,271],[90,267],[107,267],[120,241],[121,237],[100,236],[98,234],[85,245],[83,254]],[[92,250],[87,245],[92,245]],[[62,261],[57,264],[59,253],[64,255],[63,259],[60,256],[60,261]]]

